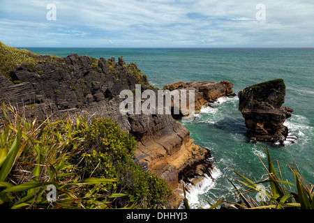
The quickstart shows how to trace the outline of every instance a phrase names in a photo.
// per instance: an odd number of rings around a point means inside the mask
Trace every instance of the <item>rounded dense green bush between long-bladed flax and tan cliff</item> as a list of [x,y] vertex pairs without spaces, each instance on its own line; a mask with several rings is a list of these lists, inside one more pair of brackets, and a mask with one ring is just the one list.
[[158,208],[166,204],[170,190],[165,180],[150,171],[142,171],[133,162],[137,143],[131,134],[121,131],[109,118],[96,118],[84,132],[84,139],[84,173],[117,180],[104,185],[103,193],[128,194],[117,200],[117,206],[136,202],[140,208]]

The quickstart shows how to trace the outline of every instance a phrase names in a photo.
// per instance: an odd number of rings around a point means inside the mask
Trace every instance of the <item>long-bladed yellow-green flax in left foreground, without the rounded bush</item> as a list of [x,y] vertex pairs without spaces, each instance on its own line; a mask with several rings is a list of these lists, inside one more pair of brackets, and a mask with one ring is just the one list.
[[[10,114],[7,113],[7,109]],[[50,122],[26,121],[3,104],[0,131],[0,206],[6,208],[110,208],[125,194],[98,194],[98,187],[116,180],[82,178],[77,171],[80,132],[87,121],[64,118]],[[47,186],[54,185],[56,201],[47,201]],[[47,196],[47,195],[46,195]]]

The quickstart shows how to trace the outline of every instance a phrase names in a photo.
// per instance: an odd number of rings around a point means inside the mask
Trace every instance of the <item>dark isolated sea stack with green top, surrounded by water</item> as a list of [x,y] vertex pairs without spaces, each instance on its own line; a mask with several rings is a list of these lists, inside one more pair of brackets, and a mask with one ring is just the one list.
[[239,91],[239,111],[245,118],[248,139],[283,146],[288,129],[283,123],[293,109],[283,106],[285,83],[275,79]]

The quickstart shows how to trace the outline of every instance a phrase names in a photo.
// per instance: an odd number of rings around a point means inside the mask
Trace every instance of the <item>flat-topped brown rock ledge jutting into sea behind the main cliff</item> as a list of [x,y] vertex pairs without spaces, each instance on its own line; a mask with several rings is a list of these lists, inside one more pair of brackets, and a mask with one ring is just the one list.
[[[232,82],[222,81],[222,82],[174,82],[171,84],[167,84],[164,86],[164,89],[169,91],[177,91],[178,94],[182,90],[189,92],[194,91],[195,94],[195,103],[194,103],[194,112],[199,113],[203,107],[207,107],[209,102],[215,102],[218,98],[234,96],[234,92],[232,90]],[[188,95],[187,95],[187,105],[189,105]],[[172,110],[173,110],[172,103]],[[174,118],[181,118],[182,116],[188,116],[190,114],[190,109],[187,107],[186,109],[182,109],[180,107],[179,114],[173,114]]]

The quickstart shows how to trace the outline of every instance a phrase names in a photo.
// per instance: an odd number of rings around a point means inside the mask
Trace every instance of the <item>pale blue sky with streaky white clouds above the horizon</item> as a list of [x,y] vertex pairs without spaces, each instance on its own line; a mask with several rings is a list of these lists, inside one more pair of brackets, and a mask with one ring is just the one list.
[[314,47],[313,0],[0,0],[13,47]]

